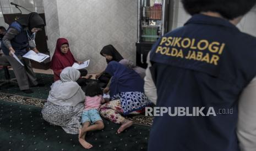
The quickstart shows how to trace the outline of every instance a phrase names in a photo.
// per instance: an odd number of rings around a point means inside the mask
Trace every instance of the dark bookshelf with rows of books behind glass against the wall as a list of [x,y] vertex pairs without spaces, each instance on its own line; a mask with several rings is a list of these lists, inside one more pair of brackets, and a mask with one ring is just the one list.
[[137,66],[146,68],[152,44],[166,33],[168,3],[168,0],[138,0]]

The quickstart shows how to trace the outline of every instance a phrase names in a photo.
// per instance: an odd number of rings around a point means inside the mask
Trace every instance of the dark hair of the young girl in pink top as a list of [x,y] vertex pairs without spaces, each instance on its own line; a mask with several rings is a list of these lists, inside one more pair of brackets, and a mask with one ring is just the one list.
[[85,87],[85,95],[94,97],[94,96],[99,96],[103,95],[103,91],[100,88],[100,85],[96,82],[91,82],[86,85]]

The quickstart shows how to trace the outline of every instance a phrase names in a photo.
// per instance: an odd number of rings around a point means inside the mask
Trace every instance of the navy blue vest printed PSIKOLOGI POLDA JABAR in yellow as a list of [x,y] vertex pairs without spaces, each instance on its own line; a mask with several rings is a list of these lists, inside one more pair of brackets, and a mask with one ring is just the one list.
[[238,151],[238,98],[256,75],[256,38],[198,14],[161,37],[150,61],[156,107],[213,108],[216,116],[155,117],[148,150]]

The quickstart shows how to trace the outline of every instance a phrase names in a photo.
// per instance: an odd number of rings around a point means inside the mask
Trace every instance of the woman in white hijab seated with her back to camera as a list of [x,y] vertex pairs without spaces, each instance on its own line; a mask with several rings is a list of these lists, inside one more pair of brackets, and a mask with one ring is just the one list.
[[51,86],[42,109],[42,117],[50,124],[62,126],[67,133],[78,134],[85,100],[84,91],[75,82],[80,77],[80,72],[67,67],[63,69],[60,77]]

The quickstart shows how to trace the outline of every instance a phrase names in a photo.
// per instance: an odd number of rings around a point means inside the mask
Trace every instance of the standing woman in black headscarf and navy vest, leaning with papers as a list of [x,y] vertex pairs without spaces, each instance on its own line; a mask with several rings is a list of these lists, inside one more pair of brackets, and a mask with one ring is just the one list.
[[[36,81],[35,73],[32,70],[29,59],[22,56],[27,53],[29,49],[39,53],[35,45],[35,33],[42,30],[45,26],[43,19],[37,13],[30,13],[25,18],[19,18],[17,21],[10,24],[6,34],[2,39],[2,50],[6,55],[10,65],[12,65],[15,77],[17,78],[20,90],[25,93],[32,93],[31,86],[44,86]],[[22,66],[13,55],[18,56],[19,60],[23,62]]]

